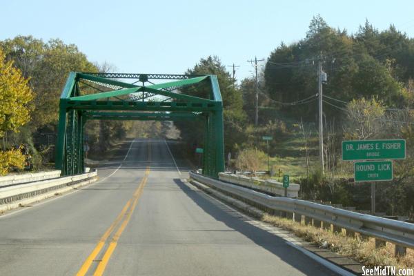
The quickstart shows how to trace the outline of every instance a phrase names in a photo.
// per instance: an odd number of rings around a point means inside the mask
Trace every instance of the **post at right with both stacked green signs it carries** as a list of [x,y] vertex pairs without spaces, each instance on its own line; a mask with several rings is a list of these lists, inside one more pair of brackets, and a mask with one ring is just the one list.
[[405,139],[342,141],[342,160],[355,161],[355,182],[371,181],[371,214],[375,215],[375,181],[393,180],[393,161],[384,159],[405,158]]

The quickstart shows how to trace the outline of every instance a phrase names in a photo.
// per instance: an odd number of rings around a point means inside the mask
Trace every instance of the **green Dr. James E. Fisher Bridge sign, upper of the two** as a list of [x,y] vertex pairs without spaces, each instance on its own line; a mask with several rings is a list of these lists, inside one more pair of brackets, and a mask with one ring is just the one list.
[[342,160],[405,159],[404,139],[342,141]]

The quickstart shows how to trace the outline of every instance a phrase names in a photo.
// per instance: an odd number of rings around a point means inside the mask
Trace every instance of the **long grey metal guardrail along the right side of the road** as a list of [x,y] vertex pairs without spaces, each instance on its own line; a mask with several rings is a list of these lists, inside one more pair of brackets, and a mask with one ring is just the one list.
[[[345,228],[351,233],[360,233],[365,236],[374,237],[380,241],[391,242],[397,246],[414,248],[414,224],[355,213],[301,199],[271,197],[270,195],[259,193],[255,190],[228,184],[195,172],[190,172],[189,174],[191,179],[238,199],[242,199],[249,204],[290,213],[292,214],[291,217],[295,214],[296,221],[300,221],[303,215],[305,216],[305,221],[306,219],[313,219],[314,224],[315,221],[319,221],[319,227],[320,221],[323,221],[324,226],[325,224],[332,224],[334,229],[335,227],[337,229],[339,228],[339,230]],[[329,228],[331,228],[331,225],[329,225]]]

